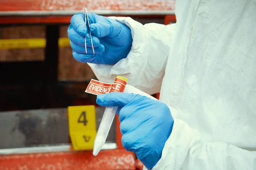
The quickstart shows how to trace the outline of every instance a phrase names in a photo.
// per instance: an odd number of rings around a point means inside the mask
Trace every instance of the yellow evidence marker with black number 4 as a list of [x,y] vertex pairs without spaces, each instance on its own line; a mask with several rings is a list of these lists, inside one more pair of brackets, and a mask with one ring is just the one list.
[[74,150],[92,150],[97,133],[95,106],[69,106],[67,111]]

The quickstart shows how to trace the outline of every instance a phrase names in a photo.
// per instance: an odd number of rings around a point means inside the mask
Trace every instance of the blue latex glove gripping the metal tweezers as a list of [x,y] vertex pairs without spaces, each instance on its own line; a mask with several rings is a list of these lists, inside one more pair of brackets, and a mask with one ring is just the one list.
[[[88,24],[84,22],[83,13],[77,13],[71,18],[67,30],[73,57],[79,62],[113,65],[127,57],[131,50],[131,29],[108,17],[87,13],[90,21],[90,31],[93,39],[93,54]],[[88,34],[89,33],[89,34]],[[86,36],[87,54],[84,40]]]

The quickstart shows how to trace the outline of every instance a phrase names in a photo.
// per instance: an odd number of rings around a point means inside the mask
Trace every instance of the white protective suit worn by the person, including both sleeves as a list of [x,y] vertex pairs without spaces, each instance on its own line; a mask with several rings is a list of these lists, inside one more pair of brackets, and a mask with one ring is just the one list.
[[[154,170],[256,170],[256,0],[176,0],[177,23],[131,28],[128,57],[89,64],[161,92],[174,126]],[[111,80],[110,80],[111,79]]]

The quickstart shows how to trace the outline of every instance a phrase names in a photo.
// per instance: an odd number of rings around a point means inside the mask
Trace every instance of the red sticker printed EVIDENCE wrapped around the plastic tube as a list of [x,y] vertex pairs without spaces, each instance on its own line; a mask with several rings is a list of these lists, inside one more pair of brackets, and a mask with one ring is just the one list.
[[107,94],[111,92],[123,92],[125,90],[127,82],[123,79],[116,77],[113,84],[100,82],[95,79],[91,79],[89,85],[86,88],[86,93],[90,94]]

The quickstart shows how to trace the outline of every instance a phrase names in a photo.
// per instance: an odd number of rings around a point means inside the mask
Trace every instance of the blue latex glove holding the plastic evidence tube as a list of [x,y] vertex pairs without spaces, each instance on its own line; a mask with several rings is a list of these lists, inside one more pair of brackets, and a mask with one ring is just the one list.
[[100,94],[96,102],[103,107],[119,107],[123,146],[151,170],[172,132],[174,122],[168,106],[145,96],[119,92]]

